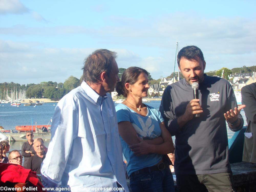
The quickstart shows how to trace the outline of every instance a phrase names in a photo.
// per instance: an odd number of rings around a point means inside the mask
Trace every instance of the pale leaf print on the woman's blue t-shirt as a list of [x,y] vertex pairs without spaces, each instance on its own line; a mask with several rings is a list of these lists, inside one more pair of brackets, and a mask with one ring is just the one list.
[[151,118],[147,118],[146,122],[144,123],[143,119],[138,117],[138,121],[140,122],[140,125],[142,127],[142,130],[140,127],[138,127],[136,124],[132,123],[132,126],[134,127],[135,131],[140,134],[142,137],[146,138],[156,138],[159,135],[156,135],[153,131],[155,129],[155,125],[152,124]]

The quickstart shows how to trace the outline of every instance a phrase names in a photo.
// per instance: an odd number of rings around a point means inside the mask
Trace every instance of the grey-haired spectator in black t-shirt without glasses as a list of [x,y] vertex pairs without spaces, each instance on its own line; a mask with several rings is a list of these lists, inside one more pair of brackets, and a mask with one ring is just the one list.
[[35,155],[31,156],[28,160],[28,169],[35,171],[36,174],[40,173],[41,163],[45,159],[45,146],[44,141],[41,138],[37,138],[34,141],[33,148],[36,152]]

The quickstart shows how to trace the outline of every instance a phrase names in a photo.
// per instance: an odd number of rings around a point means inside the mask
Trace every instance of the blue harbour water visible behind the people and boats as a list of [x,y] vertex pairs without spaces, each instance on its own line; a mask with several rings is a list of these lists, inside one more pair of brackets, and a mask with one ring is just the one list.
[[[161,101],[149,101],[144,102],[156,109],[159,109]],[[116,103],[114,103],[117,105]],[[10,103],[2,103],[0,106],[0,125],[4,127],[4,129],[15,129],[17,125],[31,125],[32,118],[33,124],[35,122],[37,125],[47,125],[51,124],[50,119],[54,115],[54,109],[57,103],[45,103],[43,105],[34,106],[24,106],[21,104],[19,107],[11,106]],[[241,114],[244,119],[244,125],[246,125],[246,117],[244,115],[244,111],[241,110]],[[228,139],[230,139],[234,132],[232,132],[227,126]],[[175,137],[173,137],[175,140]],[[16,141],[10,143],[10,151],[16,149],[21,150],[23,142]],[[49,141],[45,141],[45,146],[48,147]]]

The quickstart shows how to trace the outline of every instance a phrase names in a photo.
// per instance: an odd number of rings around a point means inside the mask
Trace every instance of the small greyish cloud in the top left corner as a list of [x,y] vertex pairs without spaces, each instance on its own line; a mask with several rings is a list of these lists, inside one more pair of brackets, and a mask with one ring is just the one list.
[[22,14],[28,12],[29,9],[25,7],[19,0],[1,0],[0,14]]

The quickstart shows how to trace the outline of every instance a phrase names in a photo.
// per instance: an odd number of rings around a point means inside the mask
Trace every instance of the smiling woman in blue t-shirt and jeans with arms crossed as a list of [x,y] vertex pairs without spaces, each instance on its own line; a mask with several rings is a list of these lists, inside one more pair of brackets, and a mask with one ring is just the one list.
[[174,151],[172,137],[160,112],[142,103],[148,88],[148,72],[139,67],[126,69],[116,84],[118,95],[126,97],[115,109],[130,186],[133,192],[174,191],[173,176],[163,158]]

